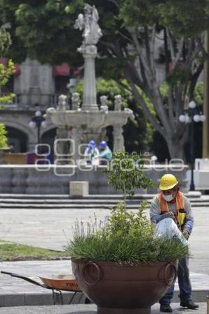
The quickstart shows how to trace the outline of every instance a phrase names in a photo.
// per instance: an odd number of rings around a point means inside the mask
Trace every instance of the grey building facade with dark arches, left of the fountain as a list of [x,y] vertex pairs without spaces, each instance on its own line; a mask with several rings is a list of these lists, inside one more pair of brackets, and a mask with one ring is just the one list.
[[[5,63],[1,61],[0,63]],[[29,122],[35,112],[45,113],[47,107],[56,107],[60,94],[68,94],[66,82],[70,79],[70,67],[64,63],[52,67],[38,61],[26,59],[17,65],[18,71],[11,77],[4,92],[14,92],[12,104],[5,104],[0,110],[0,122],[4,123],[8,144],[14,153],[34,151],[38,142],[37,128],[30,128]],[[40,128],[40,141],[53,149],[56,128],[47,121],[46,128]]]

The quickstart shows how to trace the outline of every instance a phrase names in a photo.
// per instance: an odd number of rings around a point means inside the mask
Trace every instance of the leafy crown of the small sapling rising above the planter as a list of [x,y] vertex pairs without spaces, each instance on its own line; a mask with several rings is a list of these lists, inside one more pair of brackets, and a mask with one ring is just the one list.
[[126,204],[127,195],[133,197],[135,188],[155,186],[154,182],[144,175],[144,164],[138,154],[128,154],[125,151],[115,151],[111,163],[104,172],[108,183],[115,190],[122,190]]

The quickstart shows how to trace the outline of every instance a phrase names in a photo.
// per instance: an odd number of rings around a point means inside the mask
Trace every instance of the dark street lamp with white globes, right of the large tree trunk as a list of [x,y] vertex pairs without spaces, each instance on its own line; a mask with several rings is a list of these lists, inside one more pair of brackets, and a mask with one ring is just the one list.
[[206,116],[199,112],[196,103],[192,100],[189,103],[189,108],[185,110],[185,114],[180,114],[178,117],[182,123],[190,123],[190,163],[191,163],[191,181],[190,190],[195,190],[194,186],[194,122],[204,122]]

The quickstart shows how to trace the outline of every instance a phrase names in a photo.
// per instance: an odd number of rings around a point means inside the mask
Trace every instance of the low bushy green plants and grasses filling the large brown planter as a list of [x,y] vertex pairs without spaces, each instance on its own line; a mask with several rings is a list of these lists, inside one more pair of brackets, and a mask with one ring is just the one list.
[[139,262],[171,262],[189,255],[188,246],[178,239],[162,239],[146,218],[146,202],[141,202],[139,211],[125,209],[124,203],[111,209],[107,221],[97,219],[87,223],[77,221],[74,238],[67,251],[75,260],[100,260],[126,264]]

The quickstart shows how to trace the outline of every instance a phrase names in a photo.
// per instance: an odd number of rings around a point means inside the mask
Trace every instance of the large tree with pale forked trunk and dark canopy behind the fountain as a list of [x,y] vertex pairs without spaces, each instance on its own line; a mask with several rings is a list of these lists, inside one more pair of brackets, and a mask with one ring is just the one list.
[[[170,156],[183,158],[188,126],[180,124],[178,116],[186,100],[193,98],[208,58],[202,33],[208,29],[209,0],[88,2],[98,8],[104,34],[98,45],[102,56],[98,60],[100,73],[114,79],[126,77],[137,103],[167,142]],[[22,55],[26,51],[42,62],[68,61],[77,66],[82,57],[75,51],[82,36],[73,29],[73,24],[83,7],[83,0],[1,0],[0,18],[4,22],[10,18],[15,38],[18,36],[24,43]],[[159,62],[164,64],[164,79],[169,86],[167,103],[157,80]],[[153,104],[155,114],[141,90]]]

